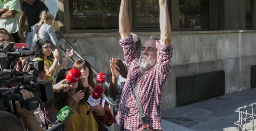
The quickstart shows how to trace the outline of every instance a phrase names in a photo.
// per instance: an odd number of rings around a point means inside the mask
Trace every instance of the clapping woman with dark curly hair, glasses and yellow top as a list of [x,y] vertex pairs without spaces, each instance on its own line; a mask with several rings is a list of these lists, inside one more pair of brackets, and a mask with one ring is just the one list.
[[62,64],[59,65],[59,51],[58,49],[55,49],[52,51],[52,46],[48,40],[40,39],[36,41],[35,46],[33,47],[33,50],[35,50],[35,58],[33,61],[36,60],[44,60],[45,63],[45,72],[46,72],[46,79],[47,81],[53,82],[53,77],[55,75],[56,71],[59,71],[61,68],[64,68],[67,66],[67,60],[69,57],[73,56],[74,51],[71,50],[68,52],[68,49],[66,51],[66,55],[64,59],[62,60]]

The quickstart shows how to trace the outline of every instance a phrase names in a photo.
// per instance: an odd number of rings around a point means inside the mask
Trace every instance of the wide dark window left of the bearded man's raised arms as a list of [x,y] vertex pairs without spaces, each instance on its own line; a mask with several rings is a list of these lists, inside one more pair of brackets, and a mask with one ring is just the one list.
[[69,0],[71,30],[118,29],[121,0]]

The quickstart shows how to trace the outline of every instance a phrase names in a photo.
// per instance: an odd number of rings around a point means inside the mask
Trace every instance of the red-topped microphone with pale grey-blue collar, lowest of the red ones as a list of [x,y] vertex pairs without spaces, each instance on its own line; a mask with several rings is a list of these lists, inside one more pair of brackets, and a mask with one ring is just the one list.
[[[96,85],[93,87],[92,95],[89,96],[87,102],[90,106],[97,106],[100,104],[100,96],[103,94],[104,88],[100,85]],[[90,111],[87,111],[87,115],[89,115]]]

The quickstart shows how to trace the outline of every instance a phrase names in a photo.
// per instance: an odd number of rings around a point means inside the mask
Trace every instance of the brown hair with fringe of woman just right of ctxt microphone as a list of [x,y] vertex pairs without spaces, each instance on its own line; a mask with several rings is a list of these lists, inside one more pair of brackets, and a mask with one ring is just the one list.
[[90,66],[89,62],[87,62],[86,60],[77,60],[74,65],[73,68],[77,68],[77,69],[82,69],[83,67],[87,67],[89,70],[89,76],[88,76],[88,84],[92,87],[94,87],[96,84],[93,81],[93,71],[92,71],[92,67]]

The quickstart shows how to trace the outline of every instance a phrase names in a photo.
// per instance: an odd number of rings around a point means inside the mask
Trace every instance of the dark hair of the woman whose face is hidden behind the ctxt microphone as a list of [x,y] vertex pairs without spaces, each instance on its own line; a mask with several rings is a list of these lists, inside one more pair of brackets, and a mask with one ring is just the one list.
[[[64,68],[58,71],[56,75],[55,83],[58,83],[62,81],[63,79],[66,79],[66,74],[71,68]],[[85,104],[85,102],[88,100],[88,97],[90,96],[89,93],[89,87],[84,87],[81,80],[78,80],[78,87],[76,88],[76,92],[82,90],[85,93],[84,99],[79,101],[79,104]],[[62,109],[64,106],[68,106],[68,94],[67,92],[57,92],[54,95],[54,106],[56,109]]]

